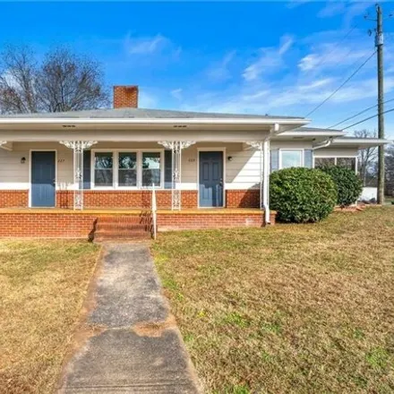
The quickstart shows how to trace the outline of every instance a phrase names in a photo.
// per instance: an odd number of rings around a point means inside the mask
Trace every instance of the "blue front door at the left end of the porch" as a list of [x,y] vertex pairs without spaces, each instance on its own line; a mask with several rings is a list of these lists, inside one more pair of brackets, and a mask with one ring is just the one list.
[[55,151],[31,152],[31,206],[55,207]]

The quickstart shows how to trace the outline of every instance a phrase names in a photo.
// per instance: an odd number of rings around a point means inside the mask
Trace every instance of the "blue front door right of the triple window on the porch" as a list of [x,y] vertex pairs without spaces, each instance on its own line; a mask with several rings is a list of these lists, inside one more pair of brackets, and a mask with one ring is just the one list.
[[200,152],[200,207],[223,207],[223,152]]

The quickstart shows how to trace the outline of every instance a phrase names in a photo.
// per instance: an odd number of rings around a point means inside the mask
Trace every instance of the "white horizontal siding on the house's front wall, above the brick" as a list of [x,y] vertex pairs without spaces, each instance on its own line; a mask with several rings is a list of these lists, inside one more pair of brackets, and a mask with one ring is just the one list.
[[[100,142],[92,149],[102,150],[141,150],[161,149],[154,142]],[[307,141],[272,141],[271,149],[311,149]],[[249,189],[259,187],[260,183],[260,152],[244,150],[243,143],[197,143],[183,151],[182,156],[182,188],[196,190],[198,188],[198,151],[203,149],[224,150],[224,168],[226,171],[226,189]],[[30,188],[30,150],[57,151],[56,189],[73,188],[73,150],[57,142],[14,142],[13,150],[0,149],[0,189]],[[321,153],[323,150],[315,150]],[[330,153],[332,150],[330,150]],[[356,153],[356,150],[355,150]],[[322,155],[324,156],[324,155]],[[26,162],[21,164],[21,158]],[[228,158],[232,160],[229,161]]]

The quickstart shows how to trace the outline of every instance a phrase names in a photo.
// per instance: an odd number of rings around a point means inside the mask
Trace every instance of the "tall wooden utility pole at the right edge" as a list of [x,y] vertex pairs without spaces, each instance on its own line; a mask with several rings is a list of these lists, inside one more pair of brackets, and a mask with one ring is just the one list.
[[[378,57],[378,136],[384,138],[384,92],[383,92],[383,18],[381,5],[376,4],[375,47]],[[378,152],[378,204],[384,203],[384,145]]]

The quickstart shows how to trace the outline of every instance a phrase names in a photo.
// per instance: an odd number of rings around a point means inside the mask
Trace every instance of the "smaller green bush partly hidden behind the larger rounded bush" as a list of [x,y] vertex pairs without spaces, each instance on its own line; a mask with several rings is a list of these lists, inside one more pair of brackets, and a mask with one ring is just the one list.
[[348,207],[354,204],[363,192],[363,182],[355,174],[354,170],[347,167],[327,166],[322,167],[321,171],[329,174],[335,184],[337,184],[337,204],[340,207]]

